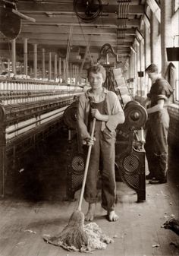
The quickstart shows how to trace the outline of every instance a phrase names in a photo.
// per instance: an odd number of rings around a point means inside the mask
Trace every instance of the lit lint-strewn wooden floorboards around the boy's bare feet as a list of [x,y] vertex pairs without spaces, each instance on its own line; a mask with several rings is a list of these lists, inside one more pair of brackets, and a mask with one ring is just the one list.
[[[122,186],[124,186],[122,184]],[[105,211],[98,203],[96,223],[103,232],[115,237],[115,242],[108,245],[105,251],[95,251],[93,255],[178,255],[178,236],[161,226],[166,217],[177,214],[178,207],[171,205],[170,196],[165,197],[163,191],[167,185],[149,186],[149,196],[146,202],[137,204],[133,194],[119,194],[117,211],[120,216],[118,223],[109,223]],[[124,190],[124,188],[122,188]],[[118,188],[120,190],[120,188]],[[128,188],[127,188],[128,191]],[[55,235],[68,223],[74,211],[75,202],[59,201],[52,204],[44,201],[42,204],[10,204],[6,218],[0,220],[2,226],[1,256],[52,256],[65,255],[66,251],[46,244],[42,235]],[[84,203],[83,211],[86,211]],[[11,213],[11,214],[9,214]],[[26,231],[25,231],[26,230]],[[159,245],[159,247],[152,247]],[[70,253],[72,254],[72,253]],[[73,253],[77,255],[77,253]],[[82,255],[82,254],[81,254]]]

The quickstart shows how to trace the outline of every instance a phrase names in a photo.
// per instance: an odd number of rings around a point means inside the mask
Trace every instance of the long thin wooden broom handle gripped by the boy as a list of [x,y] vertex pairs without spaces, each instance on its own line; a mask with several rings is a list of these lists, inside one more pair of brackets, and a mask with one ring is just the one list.
[[[93,136],[94,136],[95,125],[96,125],[96,118],[93,119],[91,139],[93,139]],[[86,184],[86,176],[87,176],[88,167],[89,167],[89,158],[90,158],[90,155],[91,155],[91,149],[92,149],[92,145],[89,145],[88,153],[87,153],[87,157],[86,157],[86,165],[85,165],[85,169],[84,169],[83,183],[82,183],[82,188],[81,188],[81,191],[80,191],[80,200],[79,200],[79,203],[78,203],[77,210],[81,210],[81,204],[82,204],[82,201],[83,201],[83,194],[84,194],[84,188],[85,188],[85,184]]]

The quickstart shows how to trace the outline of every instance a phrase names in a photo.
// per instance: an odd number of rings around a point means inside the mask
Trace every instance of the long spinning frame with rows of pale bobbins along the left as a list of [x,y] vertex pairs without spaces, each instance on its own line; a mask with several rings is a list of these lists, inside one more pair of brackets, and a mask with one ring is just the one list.
[[[0,80],[0,193],[8,173],[23,168],[23,157],[57,131],[64,110],[81,87],[37,80]],[[28,156],[26,156],[28,157]]]

